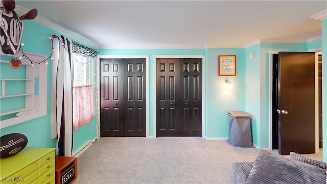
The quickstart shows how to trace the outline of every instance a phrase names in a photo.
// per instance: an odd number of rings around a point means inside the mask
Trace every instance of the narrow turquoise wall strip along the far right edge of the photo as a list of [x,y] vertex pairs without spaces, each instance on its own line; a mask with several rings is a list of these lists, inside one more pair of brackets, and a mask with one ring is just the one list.
[[327,162],[327,18],[322,20],[322,148]]

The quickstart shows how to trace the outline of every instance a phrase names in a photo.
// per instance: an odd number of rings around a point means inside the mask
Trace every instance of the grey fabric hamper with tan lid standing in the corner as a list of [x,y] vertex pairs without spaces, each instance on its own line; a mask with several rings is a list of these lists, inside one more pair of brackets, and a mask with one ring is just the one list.
[[251,114],[243,111],[227,111],[229,118],[228,143],[232,146],[252,147]]

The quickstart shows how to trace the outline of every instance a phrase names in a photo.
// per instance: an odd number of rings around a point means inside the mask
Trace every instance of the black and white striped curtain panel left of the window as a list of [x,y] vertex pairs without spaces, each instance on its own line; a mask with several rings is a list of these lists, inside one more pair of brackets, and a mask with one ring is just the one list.
[[53,35],[52,121],[56,125],[60,156],[72,156],[73,149],[72,47],[72,40]]

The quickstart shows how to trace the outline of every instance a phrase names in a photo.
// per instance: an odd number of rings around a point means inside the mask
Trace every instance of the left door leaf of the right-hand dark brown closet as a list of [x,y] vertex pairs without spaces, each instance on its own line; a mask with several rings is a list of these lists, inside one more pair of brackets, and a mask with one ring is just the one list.
[[179,135],[179,62],[156,60],[156,129],[157,136]]

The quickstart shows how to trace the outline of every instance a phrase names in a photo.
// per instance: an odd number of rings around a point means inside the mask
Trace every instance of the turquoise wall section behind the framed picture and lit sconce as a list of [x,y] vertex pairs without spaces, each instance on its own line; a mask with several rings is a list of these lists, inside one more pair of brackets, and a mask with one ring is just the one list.
[[[236,76],[218,76],[219,55],[236,55]],[[227,110],[245,109],[245,49],[207,49],[206,58],[206,136],[228,137]]]

